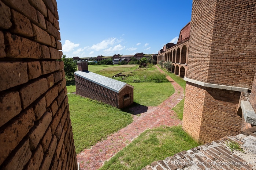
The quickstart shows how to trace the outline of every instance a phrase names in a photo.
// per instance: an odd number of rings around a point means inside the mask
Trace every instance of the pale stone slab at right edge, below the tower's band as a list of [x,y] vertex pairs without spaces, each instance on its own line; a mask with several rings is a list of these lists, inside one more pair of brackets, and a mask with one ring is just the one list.
[[256,114],[249,101],[241,101],[242,113],[246,123],[256,125]]

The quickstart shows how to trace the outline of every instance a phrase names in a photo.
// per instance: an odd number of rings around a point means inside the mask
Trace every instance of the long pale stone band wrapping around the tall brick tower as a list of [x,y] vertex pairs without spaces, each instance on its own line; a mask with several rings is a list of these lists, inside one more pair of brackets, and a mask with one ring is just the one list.
[[190,78],[187,78],[187,77],[184,77],[183,80],[191,82],[193,84],[204,86],[204,87],[210,87],[210,88],[216,88],[216,89],[224,89],[224,90],[233,90],[233,91],[237,91],[237,92],[248,92],[248,88],[205,83],[205,82],[193,80],[193,79],[190,79]]

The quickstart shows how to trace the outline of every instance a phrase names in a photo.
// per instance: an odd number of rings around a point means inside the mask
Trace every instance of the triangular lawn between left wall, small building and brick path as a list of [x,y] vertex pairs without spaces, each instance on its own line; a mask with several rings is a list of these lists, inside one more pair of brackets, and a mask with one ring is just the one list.
[[77,153],[133,121],[129,113],[75,94],[68,94],[68,103]]

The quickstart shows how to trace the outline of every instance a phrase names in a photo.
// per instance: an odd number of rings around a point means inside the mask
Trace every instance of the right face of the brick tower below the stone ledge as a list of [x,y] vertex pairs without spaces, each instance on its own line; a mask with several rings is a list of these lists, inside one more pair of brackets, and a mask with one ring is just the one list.
[[211,142],[223,136],[240,134],[241,117],[237,115],[240,93],[206,88],[200,125],[200,142]]

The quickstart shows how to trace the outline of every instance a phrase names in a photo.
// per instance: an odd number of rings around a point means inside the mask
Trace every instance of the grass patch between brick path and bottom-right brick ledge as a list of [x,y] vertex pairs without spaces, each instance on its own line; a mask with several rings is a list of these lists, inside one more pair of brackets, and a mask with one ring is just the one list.
[[140,170],[154,161],[196,146],[199,144],[182,130],[181,125],[146,130],[105,162],[100,170]]

